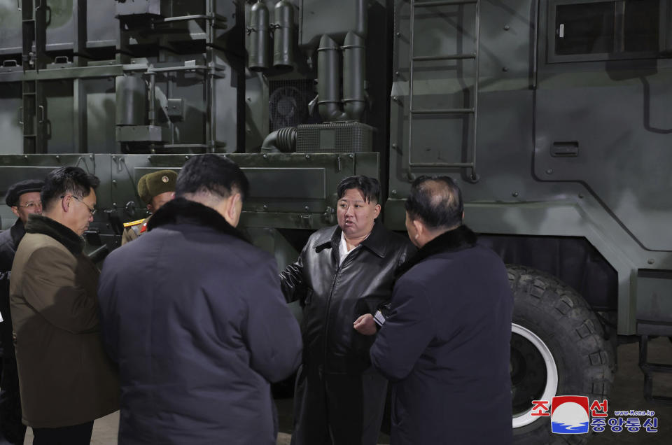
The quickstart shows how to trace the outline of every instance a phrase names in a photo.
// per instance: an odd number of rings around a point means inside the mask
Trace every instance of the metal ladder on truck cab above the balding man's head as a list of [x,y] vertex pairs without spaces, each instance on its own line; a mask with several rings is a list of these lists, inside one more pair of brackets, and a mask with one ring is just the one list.
[[[414,37],[415,37],[415,20],[416,20],[416,10],[425,9],[425,8],[435,8],[439,6],[464,6],[473,4],[475,5],[475,16],[474,16],[474,52],[463,53],[458,52],[456,54],[442,54],[442,55],[424,55],[416,56],[414,52]],[[478,61],[479,61],[479,30],[480,30],[480,20],[479,20],[479,10],[480,10],[480,1],[479,0],[429,0],[429,1],[416,1],[410,0],[410,43],[409,43],[409,110],[408,110],[408,168],[409,174],[411,174],[413,167],[450,167],[450,168],[464,168],[470,169],[471,174],[468,176],[470,181],[476,182],[479,179],[478,174],[476,173],[476,134],[477,134],[477,118],[478,118]],[[457,29],[458,32],[459,29]],[[414,81],[414,70],[415,62],[426,62],[426,61],[438,61],[438,60],[465,60],[472,59],[475,64],[475,79],[473,86],[473,99],[472,106],[469,108],[424,108],[416,109],[413,108],[413,81]],[[472,116],[472,138],[470,147],[468,148],[468,162],[413,162],[412,160],[412,143],[413,143],[413,117],[417,115],[470,115]],[[470,153],[470,155],[469,155]],[[470,161],[469,161],[470,158]]]

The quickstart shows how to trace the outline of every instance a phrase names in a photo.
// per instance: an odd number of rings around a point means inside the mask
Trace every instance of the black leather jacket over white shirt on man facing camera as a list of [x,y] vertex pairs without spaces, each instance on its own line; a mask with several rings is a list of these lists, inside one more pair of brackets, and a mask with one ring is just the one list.
[[353,322],[391,299],[394,272],[415,248],[376,223],[339,265],[340,240],[338,226],[318,230],[280,276],[287,301],[300,300],[303,307],[304,366],[356,374],[370,366],[375,336],[356,332]]

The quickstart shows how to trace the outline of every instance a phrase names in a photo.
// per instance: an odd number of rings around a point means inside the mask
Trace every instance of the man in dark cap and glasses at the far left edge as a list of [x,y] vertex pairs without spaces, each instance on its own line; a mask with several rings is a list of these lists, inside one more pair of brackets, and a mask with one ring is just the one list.
[[43,181],[29,179],[10,186],[5,196],[18,220],[0,233],[0,444],[23,444],[26,427],[21,423],[21,401],[9,312],[9,277],[14,254],[26,233],[31,213],[42,213],[40,190]]

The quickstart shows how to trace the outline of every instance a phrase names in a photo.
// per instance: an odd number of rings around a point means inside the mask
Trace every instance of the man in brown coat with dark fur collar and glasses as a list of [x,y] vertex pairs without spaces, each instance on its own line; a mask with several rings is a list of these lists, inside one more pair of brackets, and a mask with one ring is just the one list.
[[95,418],[116,411],[119,383],[102,348],[99,271],[82,253],[98,178],[78,167],[48,174],[43,214],[19,243],[10,281],[23,423],[34,444],[89,444]]

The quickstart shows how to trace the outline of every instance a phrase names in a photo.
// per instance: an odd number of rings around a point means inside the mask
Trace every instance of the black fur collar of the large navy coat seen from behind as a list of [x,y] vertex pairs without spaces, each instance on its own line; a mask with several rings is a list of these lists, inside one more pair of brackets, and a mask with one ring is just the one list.
[[189,201],[184,198],[175,198],[164,204],[149,218],[147,230],[151,232],[152,229],[167,224],[203,225],[249,242],[238,229],[230,225],[216,210],[204,206],[200,202]]

